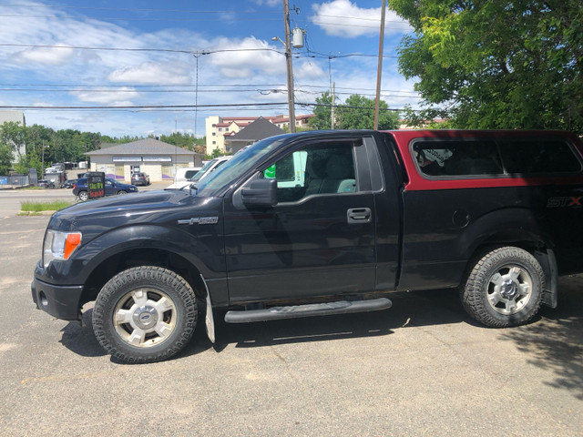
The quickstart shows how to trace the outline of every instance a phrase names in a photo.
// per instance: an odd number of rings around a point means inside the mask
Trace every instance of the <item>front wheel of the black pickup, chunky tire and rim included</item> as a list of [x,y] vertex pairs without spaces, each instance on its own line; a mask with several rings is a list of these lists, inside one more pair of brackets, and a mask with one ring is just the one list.
[[118,360],[163,361],[181,351],[197,324],[197,300],[173,271],[141,266],[118,273],[101,289],[93,330]]

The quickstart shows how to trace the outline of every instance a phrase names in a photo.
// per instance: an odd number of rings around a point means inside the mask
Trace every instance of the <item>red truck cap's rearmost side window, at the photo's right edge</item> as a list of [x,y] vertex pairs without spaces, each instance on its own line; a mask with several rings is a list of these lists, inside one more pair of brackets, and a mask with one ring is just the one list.
[[510,174],[581,171],[577,156],[568,143],[560,139],[504,139],[499,144],[506,172]]

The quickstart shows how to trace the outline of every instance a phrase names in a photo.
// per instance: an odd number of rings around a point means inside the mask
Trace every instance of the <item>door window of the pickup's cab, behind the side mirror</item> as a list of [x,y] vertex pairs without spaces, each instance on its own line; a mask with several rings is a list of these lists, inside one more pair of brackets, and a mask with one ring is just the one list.
[[312,144],[295,150],[263,171],[277,179],[278,201],[357,191],[353,141]]

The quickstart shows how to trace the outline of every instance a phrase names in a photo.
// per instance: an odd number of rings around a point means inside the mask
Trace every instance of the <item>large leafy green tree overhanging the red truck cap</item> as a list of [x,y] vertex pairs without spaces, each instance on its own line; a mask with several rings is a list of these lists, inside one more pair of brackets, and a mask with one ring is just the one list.
[[461,128],[583,131],[580,0],[391,0],[414,34],[400,71],[418,77],[425,110]]

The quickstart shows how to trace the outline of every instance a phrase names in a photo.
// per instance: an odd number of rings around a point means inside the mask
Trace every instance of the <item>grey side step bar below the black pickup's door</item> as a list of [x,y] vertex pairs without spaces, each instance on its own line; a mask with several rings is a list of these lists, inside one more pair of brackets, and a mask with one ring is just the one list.
[[386,298],[354,301],[339,300],[337,302],[310,303],[291,307],[272,307],[265,310],[228,311],[225,314],[225,321],[227,323],[249,323],[252,321],[298,319],[300,317],[386,310],[392,306],[393,302]]

